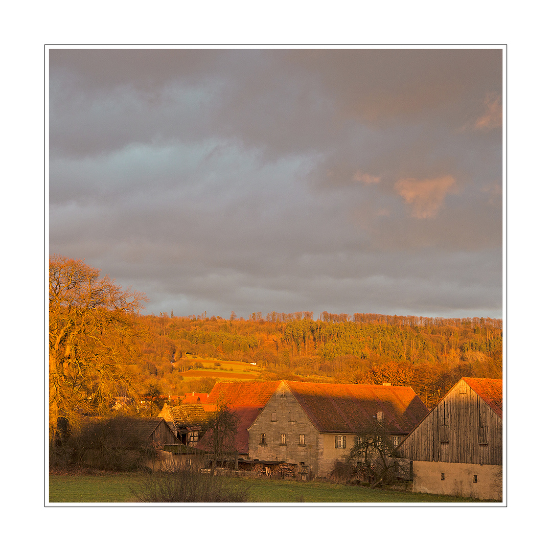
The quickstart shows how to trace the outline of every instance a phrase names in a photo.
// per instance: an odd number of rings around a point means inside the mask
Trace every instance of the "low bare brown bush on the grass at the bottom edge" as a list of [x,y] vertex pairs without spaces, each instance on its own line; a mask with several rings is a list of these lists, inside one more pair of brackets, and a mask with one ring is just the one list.
[[130,491],[139,502],[247,502],[249,494],[249,489],[235,489],[228,477],[192,466],[144,471]]

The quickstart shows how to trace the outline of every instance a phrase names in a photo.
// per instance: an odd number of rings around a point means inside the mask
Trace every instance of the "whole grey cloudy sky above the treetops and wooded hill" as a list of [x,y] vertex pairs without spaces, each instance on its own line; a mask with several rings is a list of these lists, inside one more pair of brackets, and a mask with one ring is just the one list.
[[145,312],[502,317],[501,50],[50,50],[50,254]]

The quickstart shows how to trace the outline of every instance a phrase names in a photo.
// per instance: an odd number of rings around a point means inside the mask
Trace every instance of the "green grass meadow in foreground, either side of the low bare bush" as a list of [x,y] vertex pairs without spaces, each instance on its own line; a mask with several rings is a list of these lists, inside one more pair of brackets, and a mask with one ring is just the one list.
[[[49,502],[135,502],[131,487],[135,474],[50,475]],[[489,502],[469,498],[426,495],[385,489],[314,481],[232,479],[232,485],[248,487],[250,502]]]

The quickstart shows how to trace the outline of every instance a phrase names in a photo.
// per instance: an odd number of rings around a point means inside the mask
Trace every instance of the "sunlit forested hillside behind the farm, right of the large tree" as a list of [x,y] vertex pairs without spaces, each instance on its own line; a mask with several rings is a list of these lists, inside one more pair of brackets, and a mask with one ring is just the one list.
[[248,320],[143,316],[140,372],[184,392],[193,357],[256,363],[263,379],[410,385],[432,406],[461,376],[502,377],[502,321],[253,313]]

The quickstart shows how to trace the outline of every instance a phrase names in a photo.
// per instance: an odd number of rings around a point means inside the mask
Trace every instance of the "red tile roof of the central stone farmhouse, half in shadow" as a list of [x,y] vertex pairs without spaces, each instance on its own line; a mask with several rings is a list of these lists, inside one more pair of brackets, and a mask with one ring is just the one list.
[[410,387],[284,383],[322,433],[361,432],[368,420],[383,412],[390,433],[407,434],[429,412]]

